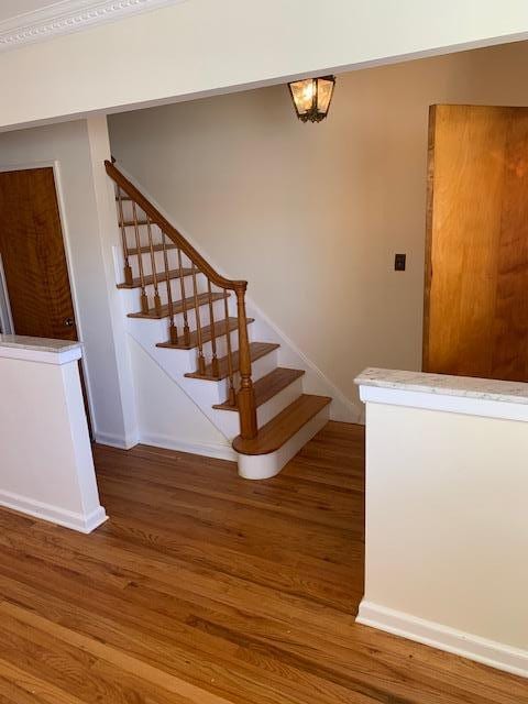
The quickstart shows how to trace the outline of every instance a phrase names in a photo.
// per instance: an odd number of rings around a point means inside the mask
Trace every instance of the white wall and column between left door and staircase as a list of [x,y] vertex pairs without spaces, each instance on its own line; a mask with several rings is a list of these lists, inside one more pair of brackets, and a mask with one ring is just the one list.
[[[105,151],[106,140],[106,151]],[[111,245],[118,243],[106,121],[95,118],[0,134],[0,168],[58,163],[63,231],[96,437],[130,444],[136,427],[124,316],[116,289]],[[110,188],[110,191],[108,189]],[[110,194],[110,195],[109,195]],[[109,202],[112,198],[112,202]],[[132,398],[132,403],[131,403]]]

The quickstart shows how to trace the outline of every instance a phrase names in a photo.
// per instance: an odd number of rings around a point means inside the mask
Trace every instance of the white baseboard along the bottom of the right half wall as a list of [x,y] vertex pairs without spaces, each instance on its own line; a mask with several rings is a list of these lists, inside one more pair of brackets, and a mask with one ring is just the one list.
[[487,640],[363,600],[356,623],[528,678],[528,650]]

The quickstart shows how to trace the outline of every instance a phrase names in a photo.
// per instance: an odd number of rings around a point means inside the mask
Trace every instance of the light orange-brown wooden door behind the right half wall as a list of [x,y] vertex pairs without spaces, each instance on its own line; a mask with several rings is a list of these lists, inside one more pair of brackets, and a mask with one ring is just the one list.
[[424,371],[528,381],[528,108],[430,110]]

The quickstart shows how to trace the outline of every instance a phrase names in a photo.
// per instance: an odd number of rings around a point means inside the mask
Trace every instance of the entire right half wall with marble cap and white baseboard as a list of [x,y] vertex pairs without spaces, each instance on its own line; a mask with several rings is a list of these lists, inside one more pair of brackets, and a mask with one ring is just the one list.
[[358,622],[528,676],[528,384],[365,370]]

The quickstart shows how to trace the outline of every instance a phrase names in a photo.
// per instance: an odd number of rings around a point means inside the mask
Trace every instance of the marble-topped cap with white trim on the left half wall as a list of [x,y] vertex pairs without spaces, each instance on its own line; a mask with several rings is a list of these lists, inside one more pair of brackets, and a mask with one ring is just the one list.
[[80,342],[0,334],[0,358],[61,365],[79,360],[81,355]]

